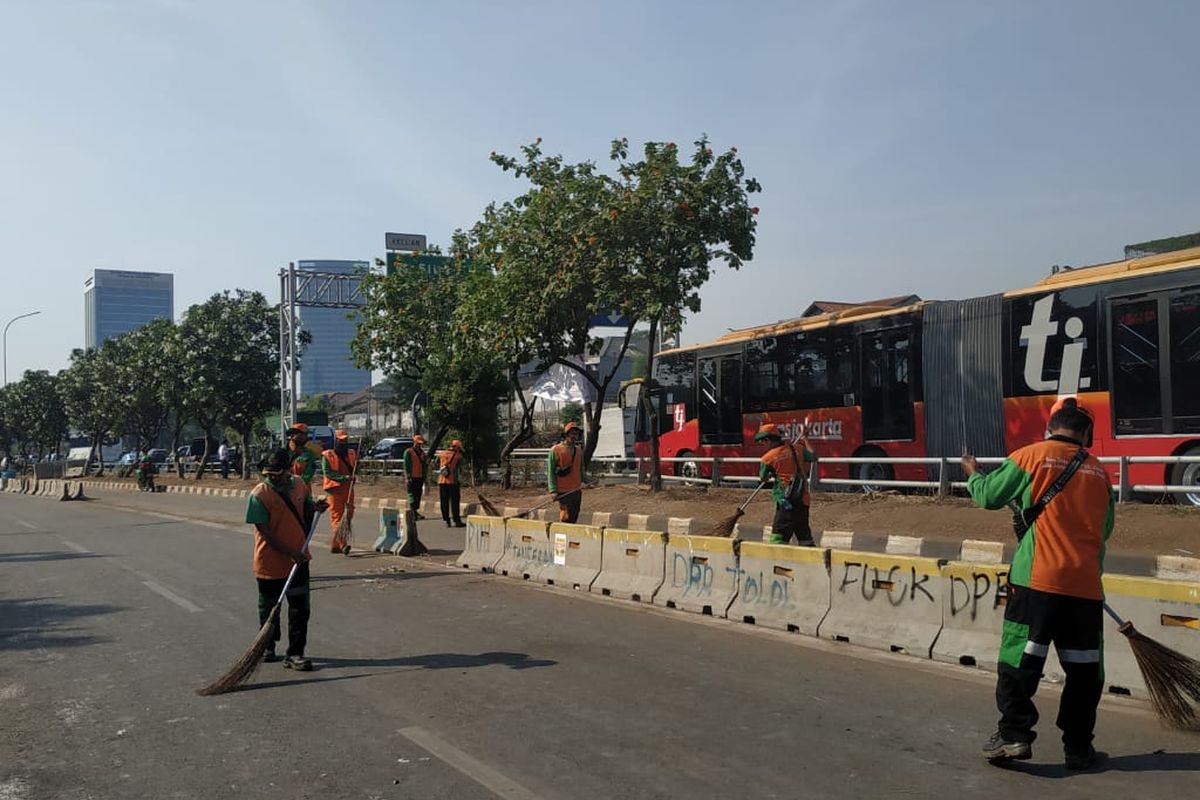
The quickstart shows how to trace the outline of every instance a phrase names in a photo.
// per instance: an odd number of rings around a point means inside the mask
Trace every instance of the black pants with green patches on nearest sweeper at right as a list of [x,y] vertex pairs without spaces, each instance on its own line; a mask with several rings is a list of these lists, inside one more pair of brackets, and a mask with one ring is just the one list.
[[1054,644],[1067,674],[1056,721],[1063,745],[1091,744],[1104,688],[1102,622],[1099,600],[1009,587],[996,680],[1000,733],[1006,740],[1032,742],[1037,738],[1033,694]]

